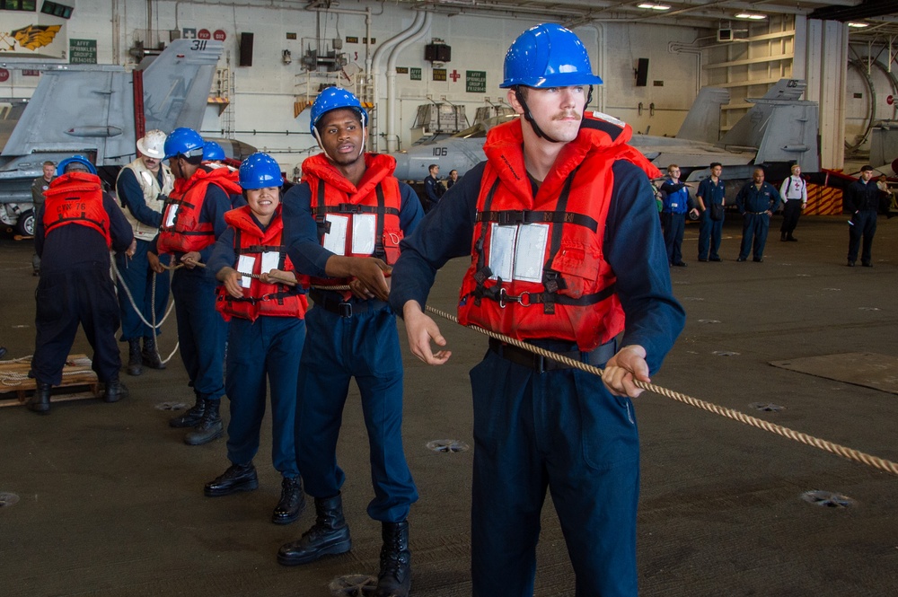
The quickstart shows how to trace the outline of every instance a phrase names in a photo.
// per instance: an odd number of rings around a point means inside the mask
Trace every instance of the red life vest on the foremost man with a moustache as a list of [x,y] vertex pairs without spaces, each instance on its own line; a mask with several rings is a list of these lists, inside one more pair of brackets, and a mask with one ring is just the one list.
[[[517,119],[492,128],[484,145],[487,166],[459,321],[512,338],[569,340],[580,350],[593,350],[624,327],[614,292],[617,278],[603,254],[612,165],[626,160],[651,178],[661,173],[626,145],[629,125],[585,112],[577,138],[561,150],[533,197],[521,126]],[[526,239],[518,244],[522,233]],[[500,248],[506,249],[504,261]],[[491,249],[497,250],[497,263],[489,263]]]

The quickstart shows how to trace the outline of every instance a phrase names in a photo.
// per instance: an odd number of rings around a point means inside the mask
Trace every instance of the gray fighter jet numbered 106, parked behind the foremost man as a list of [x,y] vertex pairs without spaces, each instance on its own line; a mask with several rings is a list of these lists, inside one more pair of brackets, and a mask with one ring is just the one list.
[[[802,171],[816,172],[820,170],[818,108],[815,101],[799,99],[805,88],[804,81],[780,79],[764,97],[748,100],[753,102],[752,108],[718,140],[720,106],[729,103],[729,92],[704,87],[677,136],[634,135],[630,143],[661,171],[671,163],[679,165],[683,179],[689,182],[707,178],[711,162],[723,164],[723,179],[740,187],[751,180],[755,164],[765,167],[768,180],[785,179],[794,163]],[[463,176],[486,159],[483,142],[489,128],[508,118],[516,117],[489,119],[443,141],[392,154],[396,176],[424,180],[432,163],[438,164],[441,172],[457,170]]]

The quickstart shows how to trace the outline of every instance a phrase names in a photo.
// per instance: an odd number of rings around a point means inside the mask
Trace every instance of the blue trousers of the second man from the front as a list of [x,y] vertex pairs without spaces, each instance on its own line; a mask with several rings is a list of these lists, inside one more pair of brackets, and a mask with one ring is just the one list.
[[337,439],[349,380],[355,377],[374,486],[368,515],[380,522],[402,522],[409,506],[418,500],[418,489],[402,450],[402,359],[396,316],[389,306],[380,304],[352,317],[321,306],[306,313],[296,461],[309,495],[323,498],[339,493],[346,476],[337,464]]

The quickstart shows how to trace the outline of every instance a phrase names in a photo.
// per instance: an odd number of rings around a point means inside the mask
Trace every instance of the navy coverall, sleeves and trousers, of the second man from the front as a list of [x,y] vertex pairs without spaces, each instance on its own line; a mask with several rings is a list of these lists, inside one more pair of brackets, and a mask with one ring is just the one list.
[[[408,235],[423,213],[409,185],[400,182],[400,192],[400,226]],[[321,246],[311,198],[306,183],[287,191],[285,244],[297,271],[325,277],[324,267],[333,253]],[[339,293],[313,289],[310,296],[315,305],[305,316],[308,338],[299,368],[295,429],[296,460],[305,491],[326,498],[336,496],[343,486],[346,476],[337,464],[337,439],[349,381],[355,377],[374,486],[368,515],[380,522],[402,522],[418,500],[418,489],[402,449],[403,372],[396,316],[389,304],[377,299],[353,297],[349,307],[340,307]]]

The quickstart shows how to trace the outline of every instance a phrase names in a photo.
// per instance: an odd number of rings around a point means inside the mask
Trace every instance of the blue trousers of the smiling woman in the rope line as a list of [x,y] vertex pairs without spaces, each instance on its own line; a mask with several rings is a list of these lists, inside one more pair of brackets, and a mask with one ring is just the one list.
[[305,321],[295,317],[263,316],[255,322],[234,317],[230,321],[225,392],[231,406],[227,457],[233,464],[245,466],[259,452],[270,383],[271,461],[282,476],[299,476],[294,425],[296,373],[304,340]]

